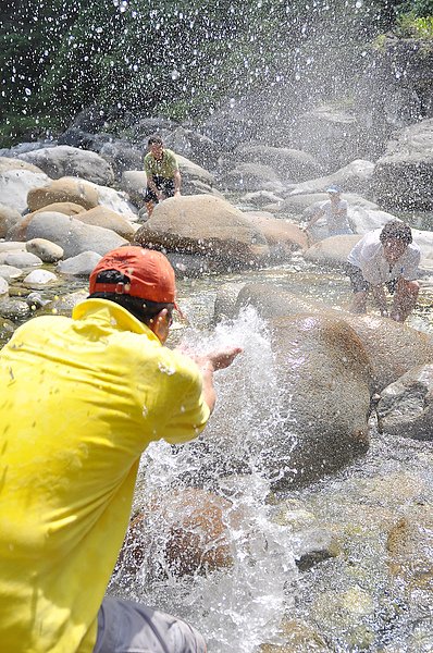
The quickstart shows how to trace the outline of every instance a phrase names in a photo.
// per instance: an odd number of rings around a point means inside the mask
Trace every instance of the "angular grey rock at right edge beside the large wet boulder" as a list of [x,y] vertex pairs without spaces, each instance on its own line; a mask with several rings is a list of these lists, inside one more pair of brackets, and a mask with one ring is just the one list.
[[385,433],[433,440],[433,362],[413,367],[385,387],[376,410]]

